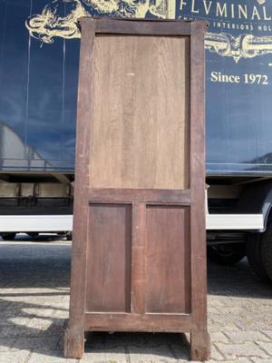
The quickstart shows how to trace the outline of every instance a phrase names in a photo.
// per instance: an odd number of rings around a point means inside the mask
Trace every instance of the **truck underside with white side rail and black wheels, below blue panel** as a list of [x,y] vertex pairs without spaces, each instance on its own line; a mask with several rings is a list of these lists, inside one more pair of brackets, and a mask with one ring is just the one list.
[[[73,173],[1,173],[0,181],[3,239],[20,232],[71,237]],[[272,177],[209,176],[207,196],[209,259],[233,264],[247,255],[257,274],[272,280]]]

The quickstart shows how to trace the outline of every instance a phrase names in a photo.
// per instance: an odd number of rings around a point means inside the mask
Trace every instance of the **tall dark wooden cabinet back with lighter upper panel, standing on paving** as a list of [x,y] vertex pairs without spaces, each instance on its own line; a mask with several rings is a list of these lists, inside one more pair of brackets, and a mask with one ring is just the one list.
[[66,357],[84,331],[209,356],[203,22],[83,18]]

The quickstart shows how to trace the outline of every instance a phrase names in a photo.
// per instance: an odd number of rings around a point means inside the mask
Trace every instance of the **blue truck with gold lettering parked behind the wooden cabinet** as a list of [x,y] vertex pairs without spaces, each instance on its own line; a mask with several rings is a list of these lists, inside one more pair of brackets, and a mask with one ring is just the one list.
[[272,4],[266,0],[1,0],[2,238],[44,231],[71,238],[82,16],[209,22],[208,257],[234,264],[247,256],[271,281]]

